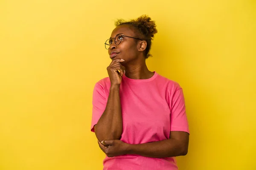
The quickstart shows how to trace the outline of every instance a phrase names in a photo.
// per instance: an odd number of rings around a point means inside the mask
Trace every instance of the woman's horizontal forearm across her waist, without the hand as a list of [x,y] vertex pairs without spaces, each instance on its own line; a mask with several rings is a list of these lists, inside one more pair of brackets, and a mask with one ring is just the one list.
[[188,152],[187,144],[177,139],[166,139],[163,141],[145,144],[129,144],[127,154],[137,154],[153,158],[166,158],[173,156],[184,156]]

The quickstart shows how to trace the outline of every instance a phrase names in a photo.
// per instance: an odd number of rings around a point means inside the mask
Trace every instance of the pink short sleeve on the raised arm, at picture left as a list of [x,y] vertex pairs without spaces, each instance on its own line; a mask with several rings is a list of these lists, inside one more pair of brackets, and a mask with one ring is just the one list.
[[107,99],[105,98],[105,92],[103,87],[96,83],[93,89],[93,113],[91,122],[91,131],[94,132],[94,125],[99,121],[107,105]]

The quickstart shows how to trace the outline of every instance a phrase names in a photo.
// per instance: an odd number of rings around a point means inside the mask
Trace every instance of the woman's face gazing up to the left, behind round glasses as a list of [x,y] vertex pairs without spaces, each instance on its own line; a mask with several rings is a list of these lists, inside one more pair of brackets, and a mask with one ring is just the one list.
[[[122,38],[122,41],[119,45],[116,45],[114,42],[114,38],[116,35],[126,35],[129,37],[120,37]],[[118,36],[119,37],[119,36]],[[118,38],[116,37],[116,38]],[[131,26],[128,25],[121,25],[117,26],[111,34],[112,44],[110,45],[108,49],[108,54],[110,55],[110,58],[113,59],[124,59],[125,62],[134,60],[138,57],[139,51],[138,51],[138,41],[136,41],[134,38],[134,29],[131,28]],[[137,38],[137,37],[136,37]]]

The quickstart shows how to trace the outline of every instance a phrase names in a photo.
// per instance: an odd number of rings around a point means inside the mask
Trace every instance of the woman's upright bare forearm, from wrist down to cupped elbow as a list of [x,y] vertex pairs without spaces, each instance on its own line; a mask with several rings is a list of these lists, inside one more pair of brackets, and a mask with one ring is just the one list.
[[120,139],[122,134],[119,88],[119,85],[111,86],[106,109],[95,125],[95,134],[99,141]]

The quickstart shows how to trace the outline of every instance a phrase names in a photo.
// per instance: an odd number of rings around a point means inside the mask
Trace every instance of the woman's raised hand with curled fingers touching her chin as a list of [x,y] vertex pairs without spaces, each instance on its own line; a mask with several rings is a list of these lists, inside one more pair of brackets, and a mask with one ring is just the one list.
[[[123,59],[113,59],[110,65],[107,67],[108,76],[111,81],[111,85],[120,85],[122,81],[122,76],[125,74],[125,67],[121,65],[120,62],[124,62]],[[119,71],[120,73],[119,73]]]

